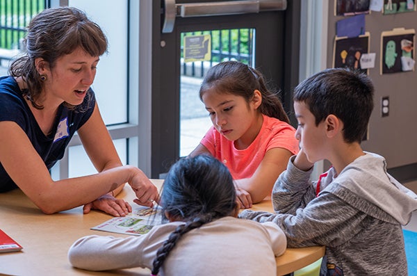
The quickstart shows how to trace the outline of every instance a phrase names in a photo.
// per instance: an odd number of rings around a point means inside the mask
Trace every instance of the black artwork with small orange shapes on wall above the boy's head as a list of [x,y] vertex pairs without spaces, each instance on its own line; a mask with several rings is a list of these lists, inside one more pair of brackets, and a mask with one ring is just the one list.
[[337,38],[334,41],[333,67],[350,67],[368,74],[367,69],[361,69],[361,56],[368,54],[369,33],[357,38]]

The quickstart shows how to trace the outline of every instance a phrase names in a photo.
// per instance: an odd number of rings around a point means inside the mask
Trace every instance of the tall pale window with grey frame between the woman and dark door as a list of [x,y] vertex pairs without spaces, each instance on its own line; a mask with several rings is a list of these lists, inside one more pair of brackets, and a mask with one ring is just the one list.
[[[130,2],[137,1],[121,0],[115,5],[111,0],[70,0],[68,6],[84,10],[108,38],[108,54],[100,58],[92,89],[122,163],[138,165],[138,101],[134,100],[138,98],[138,80],[129,81],[132,79],[129,74],[138,70],[129,70],[129,65],[138,67],[138,31],[134,31],[138,29],[138,22],[130,19],[137,20],[139,3]],[[129,28],[129,24],[133,26]],[[135,37],[131,37],[129,30]],[[136,49],[132,49],[129,42],[136,42]],[[63,179],[97,171],[81,141],[74,136],[63,160],[51,172],[54,179]]]

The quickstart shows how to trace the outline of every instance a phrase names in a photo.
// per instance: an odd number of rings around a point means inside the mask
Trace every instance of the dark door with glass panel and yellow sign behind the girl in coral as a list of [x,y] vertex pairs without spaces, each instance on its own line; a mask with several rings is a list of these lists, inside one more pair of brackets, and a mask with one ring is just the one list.
[[152,47],[152,177],[161,177],[187,156],[211,127],[199,85],[208,68],[221,61],[256,67],[283,91],[284,108],[291,112],[289,88],[298,82],[300,1],[154,4],[160,21]]

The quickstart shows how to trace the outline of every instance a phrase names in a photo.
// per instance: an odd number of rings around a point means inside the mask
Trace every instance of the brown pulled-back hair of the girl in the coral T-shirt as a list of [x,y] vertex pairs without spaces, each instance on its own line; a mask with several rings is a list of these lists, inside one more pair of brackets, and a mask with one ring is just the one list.
[[210,90],[240,96],[245,98],[246,102],[250,102],[254,97],[254,91],[259,90],[262,94],[262,104],[259,106],[261,113],[287,123],[290,122],[278,93],[267,88],[261,72],[245,63],[225,61],[211,67],[200,87],[200,99],[205,92]]

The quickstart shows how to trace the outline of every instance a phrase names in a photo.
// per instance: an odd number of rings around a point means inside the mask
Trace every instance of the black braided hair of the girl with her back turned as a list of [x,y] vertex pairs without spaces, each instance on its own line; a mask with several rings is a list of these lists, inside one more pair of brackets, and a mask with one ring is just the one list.
[[183,234],[204,223],[231,216],[236,210],[236,190],[229,170],[213,156],[205,154],[180,159],[167,173],[161,193],[162,211],[185,221],[172,232],[156,253],[152,275]]

